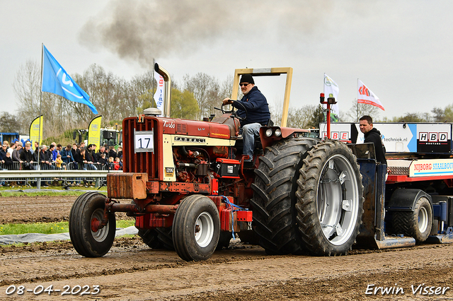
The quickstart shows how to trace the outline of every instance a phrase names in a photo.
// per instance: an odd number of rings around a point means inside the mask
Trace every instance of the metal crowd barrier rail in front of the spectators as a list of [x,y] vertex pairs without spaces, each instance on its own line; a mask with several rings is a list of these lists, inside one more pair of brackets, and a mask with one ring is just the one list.
[[99,187],[106,184],[108,172],[122,172],[122,170],[115,170],[113,166],[97,163],[76,164],[71,162],[62,163],[61,167],[57,167],[55,163],[26,165],[13,162],[13,165],[10,166],[0,163],[0,184],[35,186],[38,189],[50,184],[48,182],[64,186],[93,185]]

